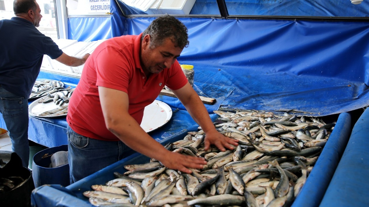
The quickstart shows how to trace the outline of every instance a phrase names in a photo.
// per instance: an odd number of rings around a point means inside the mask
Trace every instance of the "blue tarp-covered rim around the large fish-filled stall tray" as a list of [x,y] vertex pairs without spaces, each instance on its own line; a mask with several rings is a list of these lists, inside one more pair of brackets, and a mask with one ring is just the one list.
[[[323,194],[335,172],[350,132],[351,115],[346,112],[341,113],[314,168],[311,170],[305,185],[300,190],[292,206],[319,206]],[[181,140],[184,134],[178,134],[177,136],[162,140],[162,144]],[[83,195],[83,192],[92,190],[92,185],[105,185],[108,181],[115,179],[114,172],[127,172],[124,168],[125,165],[144,164],[149,162],[149,160],[148,157],[135,153],[67,187],[56,185],[40,186],[32,192],[32,206],[72,207],[78,205],[79,207],[91,207],[93,205],[89,203],[89,199]]]

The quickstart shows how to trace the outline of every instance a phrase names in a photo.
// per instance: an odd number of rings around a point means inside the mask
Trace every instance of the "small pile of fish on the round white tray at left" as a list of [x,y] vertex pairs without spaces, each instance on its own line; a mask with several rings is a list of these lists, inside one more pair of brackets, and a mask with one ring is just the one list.
[[39,80],[36,81],[32,88],[30,99],[41,98],[39,103],[54,102],[56,109],[47,110],[38,114],[38,116],[58,116],[68,112],[68,102],[75,88],[70,86],[64,88],[64,83],[54,80]]

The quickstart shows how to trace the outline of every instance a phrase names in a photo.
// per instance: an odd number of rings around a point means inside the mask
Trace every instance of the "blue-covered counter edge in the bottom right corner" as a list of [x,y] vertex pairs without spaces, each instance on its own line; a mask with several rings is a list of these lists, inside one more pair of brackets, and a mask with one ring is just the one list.
[[369,110],[366,109],[352,129],[321,207],[369,206],[368,134]]

